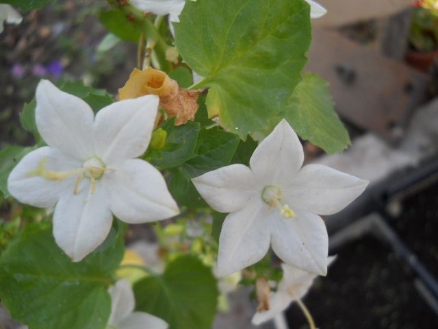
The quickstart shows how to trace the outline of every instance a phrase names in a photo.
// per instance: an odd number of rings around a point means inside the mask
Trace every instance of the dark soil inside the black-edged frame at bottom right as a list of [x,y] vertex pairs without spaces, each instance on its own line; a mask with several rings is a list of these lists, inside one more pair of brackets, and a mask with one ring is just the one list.
[[[304,302],[320,329],[438,328],[438,317],[389,247],[372,236],[344,245],[326,278]],[[300,308],[287,313],[290,328],[309,328]]]

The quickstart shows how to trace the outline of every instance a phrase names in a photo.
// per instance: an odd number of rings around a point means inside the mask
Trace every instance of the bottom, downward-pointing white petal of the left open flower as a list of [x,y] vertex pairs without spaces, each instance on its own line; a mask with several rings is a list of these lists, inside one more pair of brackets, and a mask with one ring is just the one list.
[[53,214],[53,235],[57,245],[79,262],[99,247],[112,226],[112,214],[107,191],[96,181],[91,193],[91,182],[83,178],[77,194],[64,193]]

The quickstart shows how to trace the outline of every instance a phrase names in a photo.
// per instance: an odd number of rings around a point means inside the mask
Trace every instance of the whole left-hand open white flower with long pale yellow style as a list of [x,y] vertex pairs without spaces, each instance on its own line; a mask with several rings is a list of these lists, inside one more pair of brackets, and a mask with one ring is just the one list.
[[42,80],[36,101],[38,132],[49,146],[16,165],[8,189],[31,206],[56,204],[53,235],[74,261],[105,240],[112,214],[127,223],[179,214],[159,171],[136,159],[151,140],[158,97],[117,101],[94,117],[85,101]]

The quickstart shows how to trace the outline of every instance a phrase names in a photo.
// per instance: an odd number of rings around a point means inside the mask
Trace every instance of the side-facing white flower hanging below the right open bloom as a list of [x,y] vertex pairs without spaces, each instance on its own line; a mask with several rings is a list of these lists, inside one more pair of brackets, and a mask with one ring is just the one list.
[[[329,258],[327,258],[327,266],[330,265],[333,260],[335,260],[335,257],[329,256]],[[283,279],[279,282],[277,291],[270,295],[270,309],[255,313],[252,320],[253,324],[261,324],[270,319],[274,319],[274,317],[283,312],[289,304],[304,297],[313,284],[313,280],[317,277],[314,273],[296,269],[285,263],[281,264],[281,267],[283,268]]]

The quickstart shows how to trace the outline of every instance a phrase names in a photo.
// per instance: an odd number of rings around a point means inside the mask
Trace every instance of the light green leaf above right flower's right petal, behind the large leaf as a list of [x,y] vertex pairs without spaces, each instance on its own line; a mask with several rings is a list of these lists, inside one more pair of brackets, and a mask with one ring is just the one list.
[[285,118],[301,138],[321,147],[328,154],[334,154],[348,147],[351,142],[333,108],[328,86],[318,75],[306,73],[289,99],[289,106],[279,117]]

